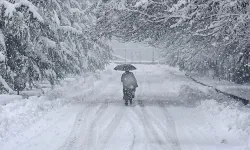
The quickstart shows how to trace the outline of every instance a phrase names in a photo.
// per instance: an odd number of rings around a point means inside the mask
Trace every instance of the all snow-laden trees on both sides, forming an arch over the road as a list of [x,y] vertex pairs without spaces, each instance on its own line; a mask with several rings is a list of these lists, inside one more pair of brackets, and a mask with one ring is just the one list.
[[114,37],[186,71],[250,81],[249,0],[0,0],[0,93],[103,69]]

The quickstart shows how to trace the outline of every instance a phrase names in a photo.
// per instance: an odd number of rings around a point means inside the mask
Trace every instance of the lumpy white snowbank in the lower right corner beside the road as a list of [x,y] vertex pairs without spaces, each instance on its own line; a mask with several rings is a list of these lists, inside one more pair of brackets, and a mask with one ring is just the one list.
[[[248,145],[246,149],[250,149],[250,110],[239,103],[219,103],[216,100],[201,101],[198,109],[206,112],[207,128],[218,127],[216,138],[221,142],[230,141],[230,137],[238,137],[242,143]],[[221,120],[223,120],[221,124]],[[220,124],[219,124],[220,122]],[[222,131],[224,130],[224,131]],[[222,133],[228,133],[227,136]]]

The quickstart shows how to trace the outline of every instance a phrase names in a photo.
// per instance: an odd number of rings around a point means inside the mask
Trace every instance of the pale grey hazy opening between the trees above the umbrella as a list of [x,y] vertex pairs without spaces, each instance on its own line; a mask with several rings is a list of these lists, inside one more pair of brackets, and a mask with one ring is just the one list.
[[114,50],[115,55],[119,55],[125,58],[125,50],[126,56],[129,60],[148,60],[152,61],[153,59],[153,51],[155,51],[155,60],[159,57],[159,52],[156,48],[148,46],[143,43],[121,43],[116,40],[111,41],[111,46]]

